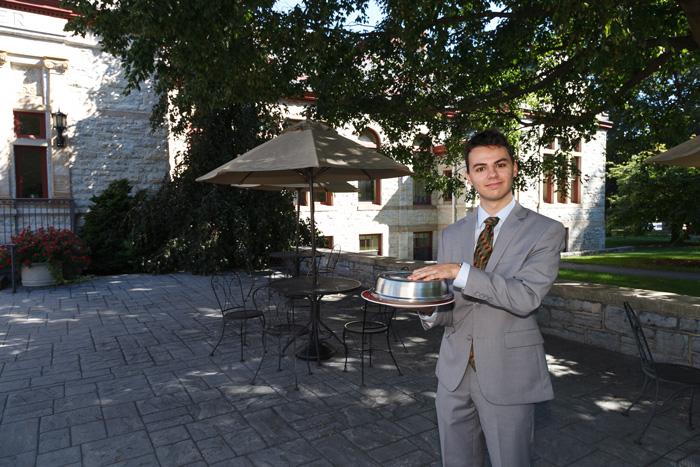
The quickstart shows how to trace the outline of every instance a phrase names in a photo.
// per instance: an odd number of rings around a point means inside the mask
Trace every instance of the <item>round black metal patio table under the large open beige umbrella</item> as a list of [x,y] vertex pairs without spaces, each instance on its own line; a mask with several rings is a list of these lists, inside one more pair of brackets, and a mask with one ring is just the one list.
[[323,327],[341,345],[343,341],[321,320],[321,299],[325,295],[347,293],[361,287],[360,281],[337,276],[319,276],[316,278],[316,287],[313,286],[312,276],[292,277],[272,281],[270,286],[281,294],[290,298],[308,298],[311,303],[311,319],[307,325],[309,330],[309,342],[297,352],[297,357],[304,360],[328,360],[333,356],[333,347],[319,336],[320,327]]

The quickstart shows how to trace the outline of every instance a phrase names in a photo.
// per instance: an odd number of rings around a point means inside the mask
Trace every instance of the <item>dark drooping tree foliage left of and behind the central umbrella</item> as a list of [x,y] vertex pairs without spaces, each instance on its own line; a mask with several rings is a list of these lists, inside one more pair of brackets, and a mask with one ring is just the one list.
[[[150,272],[254,269],[296,240],[292,196],[199,183],[195,179],[269,139],[275,116],[253,106],[195,113],[172,180],[137,208],[132,241]],[[308,235],[305,235],[308,238]]]

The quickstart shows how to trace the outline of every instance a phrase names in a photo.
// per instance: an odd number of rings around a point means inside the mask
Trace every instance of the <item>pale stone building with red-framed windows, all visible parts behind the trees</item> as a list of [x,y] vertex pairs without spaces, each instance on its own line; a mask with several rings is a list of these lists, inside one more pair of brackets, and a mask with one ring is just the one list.
[[[181,148],[166,130],[151,130],[149,83],[125,96],[118,61],[94,38],[63,31],[70,15],[58,0],[0,0],[0,243],[25,225],[74,226],[90,198],[113,180],[127,178],[137,189],[153,189],[168,176]],[[313,102],[285,104],[294,120]],[[62,131],[59,111],[66,118]],[[595,137],[574,154],[582,175],[568,197],[558,196],[547,180],[517,193],[525,206],[564,223],[569,250],[604,246],[609,126],[601,121]],[[369,146],[382,144],[380,128],[339,131]],[[556,144],[543,149],[542,157]],[[439,231],[468,208],[463,199],[426,193],[411,177],[353,183],[359,193],[316,201],[319,229],[329,245],[344,251],[434,259]],[[307,216],[308,202],[307,196]]]

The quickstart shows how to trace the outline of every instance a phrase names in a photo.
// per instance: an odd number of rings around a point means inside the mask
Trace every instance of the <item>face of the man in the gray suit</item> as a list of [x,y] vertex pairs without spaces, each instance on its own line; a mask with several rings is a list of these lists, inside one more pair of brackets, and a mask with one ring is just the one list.
[[518,166],[504,147],[477,146],[469,153],[467,179],[482,202],[503,205],[510,202],[513,179],[517,174]]

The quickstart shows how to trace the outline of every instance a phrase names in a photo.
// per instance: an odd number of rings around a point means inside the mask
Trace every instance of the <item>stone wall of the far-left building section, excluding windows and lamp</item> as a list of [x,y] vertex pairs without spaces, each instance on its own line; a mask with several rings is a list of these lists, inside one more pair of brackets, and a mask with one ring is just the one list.
[[[169,173],[166,131],[151,131],[151,84],[123,94],[114,57],[93,37],[63,31],[66,20],[0,8],[0,197],[16,197],[15,146],[46,151],[49,198],[73,198],[84,212],[113,180],[153,189]],[[50,57],[50,58],[47,58]],[[67,114],[63,148],[51,114]],[[13,111],[41,113],[46,138],[15,135]]]

